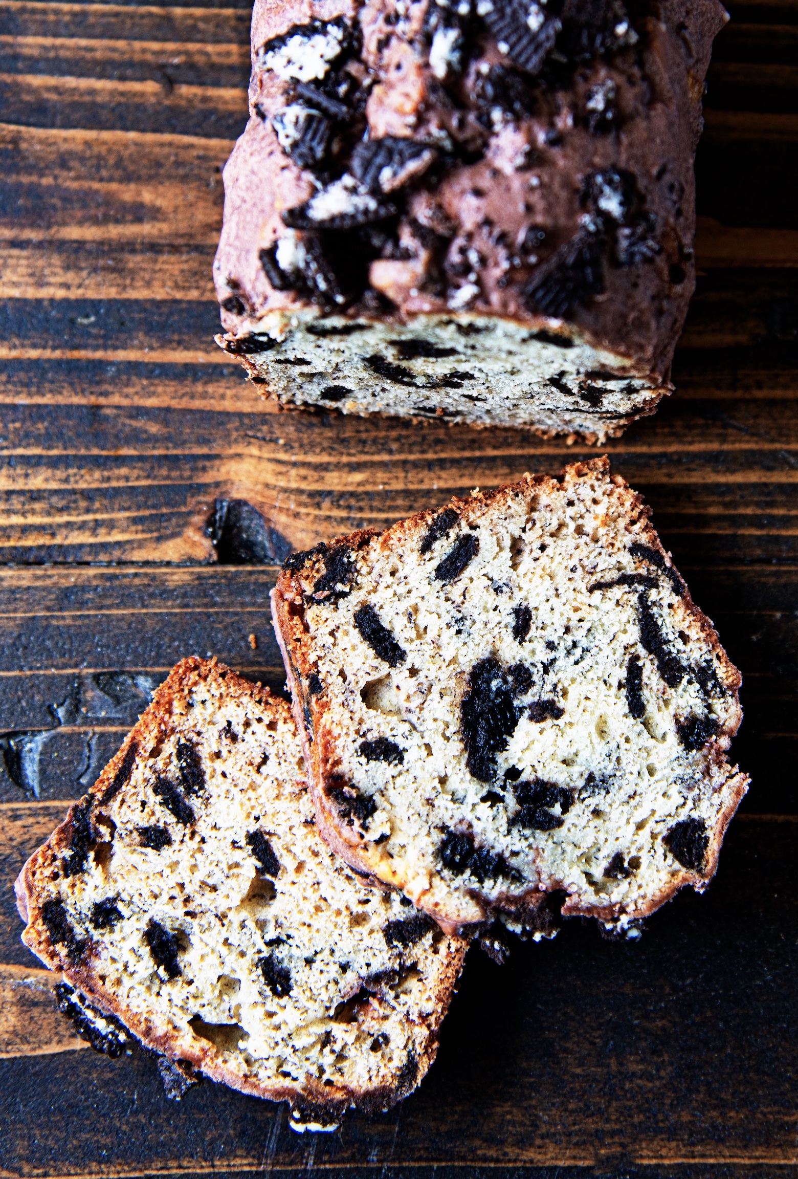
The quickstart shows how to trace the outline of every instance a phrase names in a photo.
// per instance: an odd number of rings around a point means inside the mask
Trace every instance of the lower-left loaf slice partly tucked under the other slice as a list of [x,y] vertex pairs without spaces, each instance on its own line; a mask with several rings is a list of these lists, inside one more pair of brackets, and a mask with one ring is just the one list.
[[303,772],[284,700],[184,659],[17,891],[90,1003],[318,1128],[415,1088],[466,947],[330,852]]

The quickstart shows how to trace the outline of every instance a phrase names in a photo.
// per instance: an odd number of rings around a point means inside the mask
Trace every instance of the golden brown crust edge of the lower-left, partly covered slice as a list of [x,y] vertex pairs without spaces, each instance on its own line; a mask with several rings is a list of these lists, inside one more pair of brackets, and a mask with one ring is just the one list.
[[[186,1060],[207,1076],[229,1085],[231,1088],[272,1101],[289,1101],[294,1108],[302,1109],[315,1121],[322,1122],[335,1121],[350,1106],[369,1111],[389,1108],[415,1087],[415,1081],[409,1088],[405,1086],[404,1089],[400,1084],[393,1088],[381,1086],[358,1091],[345,1085],[322,1085],[316,1078],[309,1075],[304,1086],[298,1088],[292,1085],[264,1085],[225,1068],[224,1065],[219,1063],[218,1055],[212,1048],[197,1047],[196,1039],[189,1043],[176,1032],[159,1027],[126,1008],[112,990],[103,986],[95,974],[92,966],[91,947],[81,956],[80,962],[71,961],[67,949],[60,943],[53,943],[41,920],[41,904],[45,897],[37,885],[37,877],[47,878],[54,861],[68,848],[79,809],[85,805],[88,798],[99,801],[103,797],[133,743],[138,745],[139,751],[149,752],[157,746],[172,725],[174,710],[180,711],[183,702],[192,687],[200,681],[213,679],[224,680],[230,689],[249,697],[276,716],[282,714],[285,718],[290,711],[288,703],[272,696],[268,687],[250,683],[237,672],[217,663],[216,659],[209,661],[193,656],[183,659],[157,689],[152,704],[125,738],[121,749],[103,770],[88,793],[70,806],[64,822],[22,867],[15,882],[18,909],[22,921],[26,922],[21,940],[46,966],[60,970],[64,979],[80,990],[94,1006],[117,1016],[147,1048],[173,1060]],[[454,994],[467,948],[464,942],[455,944],[447,957],[446,970],[441,976],[436,995],[435,1013],[428,1023],[429,1034],[418,1059],[418,1075],[423,1075],[435,1059],[440,1026]]]

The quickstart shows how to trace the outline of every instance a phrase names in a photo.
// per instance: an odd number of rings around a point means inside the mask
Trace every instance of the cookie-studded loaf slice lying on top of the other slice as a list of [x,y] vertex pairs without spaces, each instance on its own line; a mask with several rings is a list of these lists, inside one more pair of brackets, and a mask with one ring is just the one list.
[[740,676],[608,460],[290,556],[319,829],[443,929],[629,930],[713,875]]

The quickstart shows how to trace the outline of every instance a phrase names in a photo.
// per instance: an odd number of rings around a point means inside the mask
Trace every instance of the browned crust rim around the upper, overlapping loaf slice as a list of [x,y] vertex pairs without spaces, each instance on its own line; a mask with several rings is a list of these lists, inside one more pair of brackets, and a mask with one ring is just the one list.
[[[737,733],[743,719],[739,705],[740,673],[723,650],[712,621],[692,600],[684,579],[671,560],[671,554],[661,545],[657,532],[649,522],[651,508],[646,506],[642,496],[634,492],[622,476],[611,474],[609,459],[606,455],[567,465],[559,476],[527,474],[517,483],[502,485],[488,493],[475,492],[466,499],[453,496],[446,506],[455,508],[461,516],[467,518],[468,509],[476,502],[479,502],[481,508],[486,508],[497,505],[509,496],[517,495],[523,488],[533,485],[542,489],[554,489],[558,486],[568,485],[591,475],[608,476],[611,479],[621,500],[627,527],[631,529],[634,526],[635,539],[638,540],[640,540],[642,534],[645,544],[661,558],[668,577],[678,579],[684,606],[695,620],[703,637],[713,652],[719,677],[732,699],[731,718],[719,730],[715,745],[713,746],[715,759],[723,762],[723,750],[728,747],[731,738]],[[423,533],[429,527],[431,520],[440,511],[440,508],[427,509],[402,520],[387,532],[374,536],[372,542],[382,549],[396,548],[401,552],[402,547],[407,546],[413,536]],[[338,545],[362,548],[363,544],[363,533],[351,533],[331,541],[328,548],[335,548]],[[403,881],[396,869],[393,868],[393,864],[385,859],[382,848],[372,842],[365,842],[360,838],[352,828],[342,826],[337,818],[337,811],[330,805],[329,795],[335,785],[335,768],[338,753],[335,733],[330,732],[329,727],[324,725],[324,714],[329,705],[323,698],[315,697],[308,691],[308,681],[316,665],[312,660],[309,645],[305,602],[299,581],[299,558],[302,555],[297,554],[291,561],[292,568],[284,567],[277,580],[271,597],[272,620],[285,660],[297,725],[302,732],[303,753],[308,765],[308,777],[316,806],[318,829],[332,850],[356,871],[402,888]],[[308,560],[312,561],[316,558],[317,554],[314,551],[308,554]],[[319,566],[319,568],[323,568],[323,566]],[[302,566],[302,572],[305,575],[308,574],[306,565]],[[725,786],[730,791],[730,801],[712,829],[710,843],[706,849],[704,870],[700,874],[688,869],[674,872],[667,887],[648,896],[645,903],[639,904],[633,911],[628,908],[621,908],[620,904],[588,905],[581,903],[575,896],[569,896],[562,907],[563,916],[592,916],[605,922],[612,922],[619,917],[624,917],[626,921],[639,920],[654,913],[687,884],[691,884],[698,891],[703,891],[717,869],[718,856],[728,822],[747,791],[747,776],[740,773],[738,770],[732,770],[731,775],[726,779]],[[558,887],[556,882],[552,882],[549,891]],[[502,894],[493,901],[479,890],[469,890],[469,896],[481,915],[469,927],[463,927],[457,921],[451,920],[446,911],[441,910],[438,904],[427,902],[424,897],[414,896],[413,900],[421,908],[424,908],[447,934],[460,935],[471,934],[480,924],[489,923],[500,909],[513,917],[514,914],[525,908],[532,905],[535,909],[540,904],[540,894],[534,888],[522,894],[508,894],[507,896]]]

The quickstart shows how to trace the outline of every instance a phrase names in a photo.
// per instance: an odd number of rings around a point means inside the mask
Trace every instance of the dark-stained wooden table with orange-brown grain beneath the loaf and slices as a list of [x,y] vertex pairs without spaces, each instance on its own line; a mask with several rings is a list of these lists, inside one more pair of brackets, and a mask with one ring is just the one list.
[[[210,1082],[170,1102],[147,1054],[75,1040],[13,878],[179,657],[282,687],[289,546],[595,452],[262,402],[212,341],[245,0],[0,2],[4,1179],[798,1175],[798,0],[731,13],[678,391],[607,449],[743,668],[751,793],[704,897],[635,944],[572,922],[503,968],[471,950],[420,1091],[298,1137],[284,1106]],[[255,564],[209,535],[230,499],[263,516]]]

